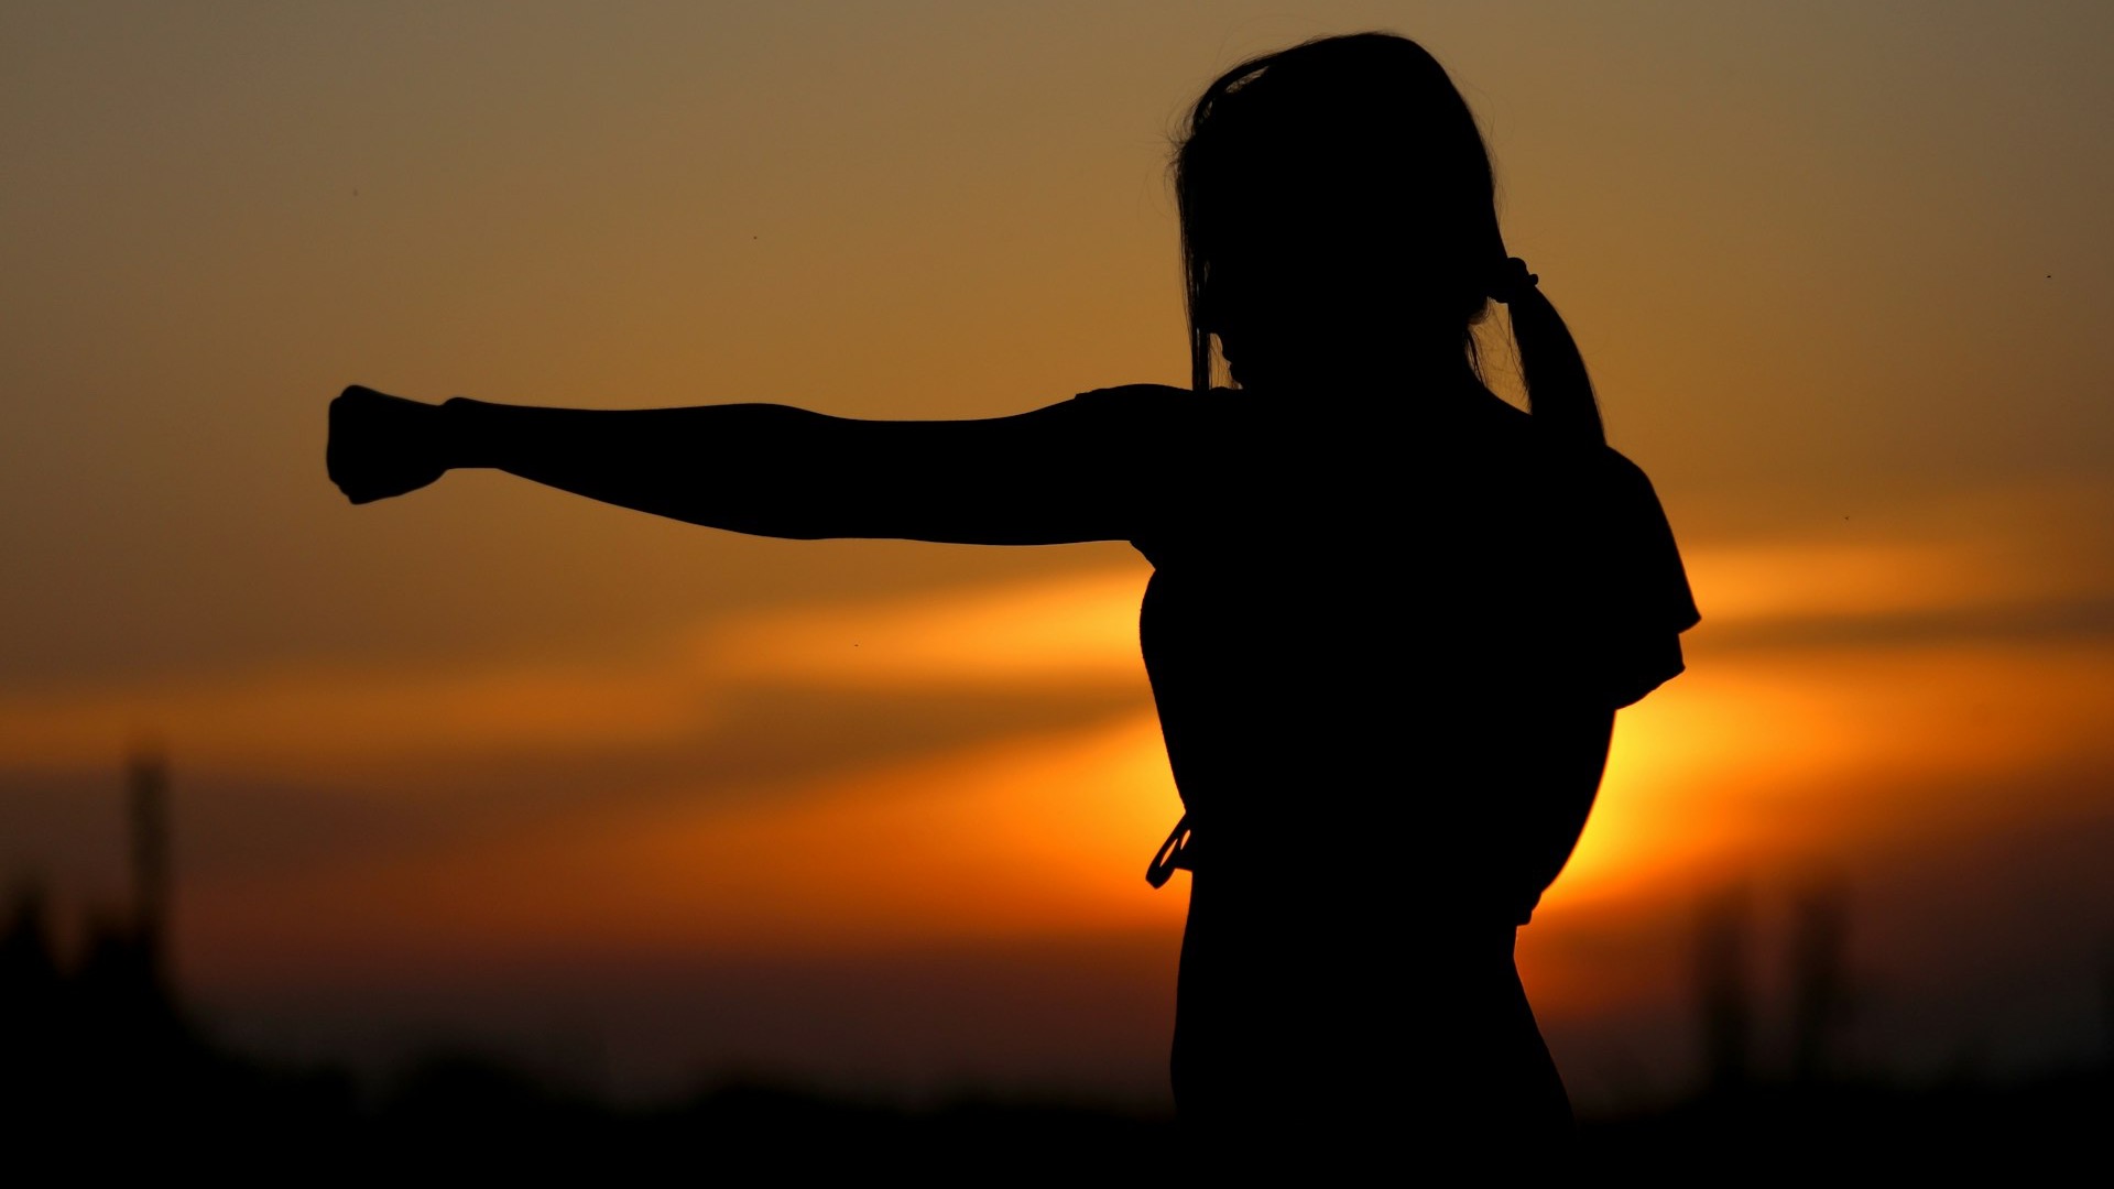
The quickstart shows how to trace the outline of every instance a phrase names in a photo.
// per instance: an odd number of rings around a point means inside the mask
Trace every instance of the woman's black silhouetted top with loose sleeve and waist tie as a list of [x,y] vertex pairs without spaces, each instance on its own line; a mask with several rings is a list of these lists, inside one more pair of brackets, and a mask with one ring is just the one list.
[[1150,476],[1139,643],[1186,808],[1154,886],[1251,870],[1524,922],[1613,711],[1681,673],[1700,618],[1643,470],[1488,394],[1070,404]]

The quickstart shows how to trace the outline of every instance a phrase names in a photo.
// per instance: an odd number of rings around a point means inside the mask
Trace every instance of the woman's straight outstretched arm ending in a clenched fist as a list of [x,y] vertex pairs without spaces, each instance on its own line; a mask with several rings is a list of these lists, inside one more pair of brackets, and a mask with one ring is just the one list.
[[452,468],[738,533],[962,544],[1127,539],[1146,478],[1135,442],[1078,402],[983,421],[852,421],[780,404],[429,406],[361,387],[332,404],[330,470],[355,504]]

